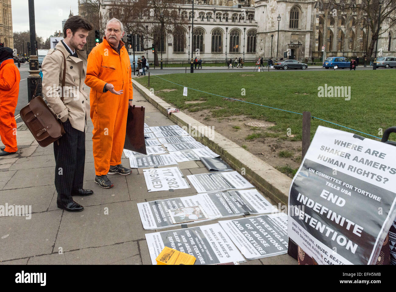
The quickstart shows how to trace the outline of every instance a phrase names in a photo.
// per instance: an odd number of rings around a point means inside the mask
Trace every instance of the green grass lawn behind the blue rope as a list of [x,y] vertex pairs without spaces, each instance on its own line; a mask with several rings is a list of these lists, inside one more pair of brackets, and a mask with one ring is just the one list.
[[[396,125],[395,74],[395,69],[378,69],[376,71],[338,69],[335,71],[276,71],[271,73],[188,73],[159,75],[159,77],[189,88],[246,102],[297,113],[310,111],[314,117],[381,137],[379,128],[385,130]],[[147,87],[147,76],[135,80]],[[254,119],[275,123],[275,126],[270,130],[282,135],[286,135],[287,128],[290,128],[291,135],[294,134],[295,137],[287,138],[301,140],[302,115],[228,100],[192,89],[188,89],[186,97],[183,96],[183,86],[168,81],[151,75],[150,88],[154,88],[156,95],[176,108],[185,111],[210,109],[211,116],[215,118],[247,115]],[[327,86],[350,86],[350,100],[345,100],[343,97],[318,97],[318,86],[325,86],[325,83]],[[177,90],[157,92],[162,89]],[[246,95],[242,95],[244,91]],[[188,100],[204,100],[205,102],[185,104],[185,101]],[[311,120],[311,138],[318,125],[356,133],[313,119]],[[390,138],[395,140],[394,136]]]

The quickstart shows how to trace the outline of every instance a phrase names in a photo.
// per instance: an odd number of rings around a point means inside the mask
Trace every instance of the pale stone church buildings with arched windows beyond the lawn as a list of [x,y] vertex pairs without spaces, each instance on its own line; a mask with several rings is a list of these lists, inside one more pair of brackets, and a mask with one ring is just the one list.
[[[191,50],[198,49],[201,58],[244,55],[302,60],[322,56],[322,46],[326,56],[362,57],[366,54],[367,33],[368,45],[371,41],[366,15],[358,10],[325,9],[320,0],[194,0],[192,33],[191,1],[175,7],[174,13],[188,19],[188,25],[165,36],[164,58],[188,57]],[[112,16],[111,3],[101,0],[103,21]],[[142,24],[148,25],[149,32],[160,30],[160,22],[150,17],[142,17]],[[379,55],[395,56],[396,27],[384,22],[381,32]],[[152,37],[148,35],[148,39]],[[137,44],[141,41],[136,40]],[[151,46],[147,38],[143,41],[146,48]]]

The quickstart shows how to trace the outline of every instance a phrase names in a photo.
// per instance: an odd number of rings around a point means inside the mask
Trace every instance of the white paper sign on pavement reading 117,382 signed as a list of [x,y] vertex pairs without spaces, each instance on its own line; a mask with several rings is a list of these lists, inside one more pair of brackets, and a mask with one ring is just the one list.
[[189,188],[179,167],[143,169],[148,192]]

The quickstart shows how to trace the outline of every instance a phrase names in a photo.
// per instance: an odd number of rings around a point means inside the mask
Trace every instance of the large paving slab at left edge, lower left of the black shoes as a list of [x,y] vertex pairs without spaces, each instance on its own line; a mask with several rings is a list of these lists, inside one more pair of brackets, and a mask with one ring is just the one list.
[[50,254],[63,210],[0,218],[0,261]]

